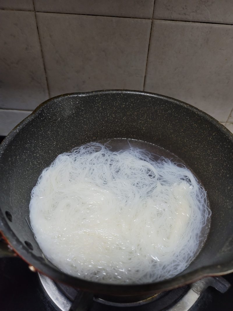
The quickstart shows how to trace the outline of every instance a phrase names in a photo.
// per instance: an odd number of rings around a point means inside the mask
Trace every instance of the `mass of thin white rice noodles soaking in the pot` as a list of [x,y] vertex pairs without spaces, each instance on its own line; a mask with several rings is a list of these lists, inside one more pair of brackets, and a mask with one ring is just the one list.
[[210,210],[183,165],[90,143],[63,153],[31,193],[30,221],[44,255],[90,281],[162,281],[189,266]]

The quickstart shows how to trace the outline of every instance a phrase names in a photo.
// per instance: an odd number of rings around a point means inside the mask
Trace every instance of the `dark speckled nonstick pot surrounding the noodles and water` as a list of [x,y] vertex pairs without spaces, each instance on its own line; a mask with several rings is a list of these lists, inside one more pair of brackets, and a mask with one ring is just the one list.
[[[107,138],[133,138],[161,146],[184,160],[203,183],[212,211],[210,231],[199,255],[179,276],[143,285],[99,284],[69,276],[43,257],[29,225],[31,189],[58,154]],[[231,272],[232,189],[233,135],[199,109],[152,93],[113,90],[54,97],[39,105],[0,145],[4,236],[40,272],[98,293],[138,295]]]

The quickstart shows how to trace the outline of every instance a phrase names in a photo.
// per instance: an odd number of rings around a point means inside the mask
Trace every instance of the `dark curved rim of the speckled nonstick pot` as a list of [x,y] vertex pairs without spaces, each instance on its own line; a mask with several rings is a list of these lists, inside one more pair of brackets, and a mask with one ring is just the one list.
[[[52,97],[38,107],[34,109],[34,111],[22,120],[15,128],[11,130],[11,132],[6,136],[6,138],[0,144],[0,158],[4,153],[5,149],[7,148],[8,144],[14,139],[17,133],[32,119],[34,119],[41,110],[44,108],[46,104],[51,102],[52,100],[62,100],[62,98],[66,97],[85,97],[91,95],[101,95],[101,94],[137,94],[137,95],[148,95],[154,98],[160,98],[163,100],[169,100],[174,104],[181,105],[187,109],[194,111],[196,114],[205,118],[208,122],[214,124],[221,132],[223,132],[233,143],[233,134],[225,128],[221,123],[219,123],[216,119],[211,117],[210,115],[206,114],[202,110],[182,102],[180,100],[176,100],[174,98],[159,95],[150,92],[144,91],[130,91],[130,90],[102,90],[102,91],[91,91],[91,92],[79,92],[79,93],[67,93]],[[112,295],[134,295],[134,294],[144,294],[148,292],[161,292],[164,290],[170,290],[176,287],[183,286],[185,284],[189,284],[195,282],[203,277],[206,276],[219,276],[233,272],[233,260],[230,262],[224,262],[222,264],[216,264],[211,266],[204,266],[182,276],[174,276],[171,279],[160,281],[160,282],[153,282],[153,283],[146,283],[146,284],[139,284],[139,285],[114,285],[108,283],[98,283],[93,281],[87,281],[75,276],[70,276],[62,271],[60,271],[55,266],[49,266],[43,258],[38,258],[35,256],[28,248],[25,247],[23,243],[18,239],[18,237],[14,234],[11,230],[7,220],[3,216],[2,210],[0,210],[0,230],[2,231],[3,235],[7,239],[7,242],[11,245],[14,251],[29,265],[32,265],[36,271],[47,275],[51,279],[66,283],[73,287],[78,287],[83,290],[92,291],[95,293],[104,292],[106,294]]]

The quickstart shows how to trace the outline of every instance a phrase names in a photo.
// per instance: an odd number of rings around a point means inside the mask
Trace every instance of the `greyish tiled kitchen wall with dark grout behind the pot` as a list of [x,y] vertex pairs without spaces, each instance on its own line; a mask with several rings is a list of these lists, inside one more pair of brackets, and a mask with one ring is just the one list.
[[144,90],[233,129],[233,1],[0,0],[0,135],[68,92]]

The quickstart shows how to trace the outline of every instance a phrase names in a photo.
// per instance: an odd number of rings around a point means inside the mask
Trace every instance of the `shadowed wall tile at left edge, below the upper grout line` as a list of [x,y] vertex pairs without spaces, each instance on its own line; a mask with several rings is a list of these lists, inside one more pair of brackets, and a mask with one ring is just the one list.
[[33,110],[48,98],[34,12],[0,11],[0,108]]

